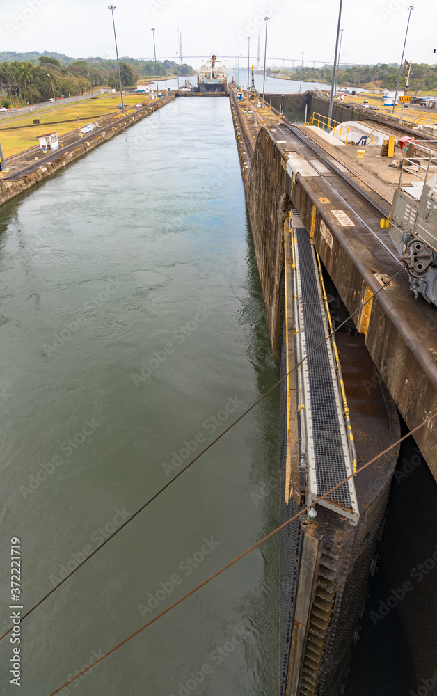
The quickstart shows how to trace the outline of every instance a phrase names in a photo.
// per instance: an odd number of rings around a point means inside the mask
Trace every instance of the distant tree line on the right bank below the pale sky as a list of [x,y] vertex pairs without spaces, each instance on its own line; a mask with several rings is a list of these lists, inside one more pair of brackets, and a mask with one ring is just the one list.
[[[321,82],[331,84],[333,79],[333,69],[328,66],[324,68],[296,68],[296,70],[271,70],[274,74],[281,77],[290,77],[294,80],[303,82]],[[378,65],[350,65],[340,68],[337,73],[337,84],[340,86],[360,86],[360,84],[378,83],[377,86],[387,89],[395,89],[397,77],[399,75],[399,65],[381,63]],[[406,75],[401,73],[400,86],[405,86]],[[427,63],[413,63],[411,65],[410,88],[412,90],[434,90],[437,89],[437,65]]]

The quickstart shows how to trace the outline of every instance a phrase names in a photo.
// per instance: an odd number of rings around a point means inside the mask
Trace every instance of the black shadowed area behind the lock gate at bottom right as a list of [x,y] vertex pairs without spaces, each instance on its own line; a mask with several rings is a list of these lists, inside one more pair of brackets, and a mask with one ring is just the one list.
[[436,481],[410,437],[392,480],[347,695],[425,696],[437,687],[436,496]]

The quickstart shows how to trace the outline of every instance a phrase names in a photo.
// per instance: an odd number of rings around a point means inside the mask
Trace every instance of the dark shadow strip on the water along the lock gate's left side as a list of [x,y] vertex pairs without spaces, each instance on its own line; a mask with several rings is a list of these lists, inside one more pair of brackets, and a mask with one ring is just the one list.
[[[247,294],[241,302],[241,324],[250,332],[248,360],[255,372],[259,397],[279,379],[278,366],[273,360],[269,339],[269,327],[257,267],[251,223],[246,208],[246,278]],[[255,428],[246,433],[246,441],[252,452],[251,502],[257,508],[262,521],[262,535],[267,535],[279,523],[279,409],[280,390],[273,389],[253,409]],[[262,443],[262,446],[260,446]],[[267,456],[266,456],[267,453]],[[260,636],[259,693],[277,694],[279,679],[279,535],[266,541],[259,549],[265,567],[266,581],[259,587],[257,598],[251,597],[251,612],[263,626]],[[241,605],[241,612],[247,607]],[[266,620],[266,615],[268,620]],[[255,691],[253,692],[255,693]],[[258,691],[256,692],[258,693]]]

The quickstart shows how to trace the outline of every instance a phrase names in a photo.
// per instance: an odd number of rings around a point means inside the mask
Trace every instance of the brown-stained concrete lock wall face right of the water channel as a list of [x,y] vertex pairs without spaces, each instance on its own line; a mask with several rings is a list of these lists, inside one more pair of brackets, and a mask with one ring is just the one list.
[[[357,237],[352,244],[331,212],[324,211],[322,216],[320,200],[326,195],[322,180],[298,175],[290,200],[290,181],[285,171],[288,154],[283,149],[287,145],[275,139],[276,135],[268,129],[260,130],[250,169],[241,142],[239,152],[271,347],[277,359],[283,293],[283,222],[291,207],[299,210],[307,229],[312,226],[312,214],[316,209],[314,243],[350,313],[363,303],[367,286],[372,292],[381,288],[374,276],[375,269],[381,274],[385,271],[374,258],[369,260],[371,267],[363,262],[368,257],[364,239]],[[333,239],[331,248],[321,233],[322,220]],[[418,321],[416,315],[413,298],[405,297],[393,284],[374,300],[366,338],[370,355],[410,429],[437,408],[436,364],[420,338],[413,338],[411,327]],[[419,402],[414,396],[417,393],[422,395]],[[431,423],[422,428],[415,434],[415,441],[437,480],[436,427]]]

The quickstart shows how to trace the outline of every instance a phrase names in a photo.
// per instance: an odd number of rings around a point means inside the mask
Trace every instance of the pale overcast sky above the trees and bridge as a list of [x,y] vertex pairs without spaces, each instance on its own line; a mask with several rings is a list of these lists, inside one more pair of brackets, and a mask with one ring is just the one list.
[[[344,0],[341,62],[399,63],[408,19],[408,1]],[[120,56],[150,58],[151,27],[157,56],[175,57],[177,27],[184,62],[195,67],[213,50],[218,56],[257,56],[263,17],[270,17],[268,58],[333,61],[339,0],[119,0],[114,16]],[[111,12],[97,0],[1,0],[0,46],[10,51],[57,51],[67,56],[115,58]],[[437,2],[418,0],[411,13],[405,58],[436,63]],[[235,60],[228,58],[228,65]],[[270,61],[275,62],[275,61]],[[277,61],[276,61],[277,62]],[[290,63],[285,63],[290,65]],[[316,63],[317,67],[317,63]]]

